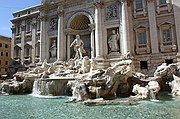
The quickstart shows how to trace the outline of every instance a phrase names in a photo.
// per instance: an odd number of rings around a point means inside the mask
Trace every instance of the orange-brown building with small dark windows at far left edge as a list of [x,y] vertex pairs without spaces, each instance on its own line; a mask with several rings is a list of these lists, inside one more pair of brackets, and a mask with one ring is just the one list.
[[11,60],[11,38],[0,35],[0,75],[7,73]]

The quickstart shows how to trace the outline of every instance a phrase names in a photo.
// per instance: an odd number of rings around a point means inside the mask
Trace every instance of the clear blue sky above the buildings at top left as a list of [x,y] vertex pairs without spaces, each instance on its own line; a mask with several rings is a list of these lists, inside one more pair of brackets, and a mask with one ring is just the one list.
[[0,35],[12,37],[12,13],[40,4],[40,0],[0,0]]

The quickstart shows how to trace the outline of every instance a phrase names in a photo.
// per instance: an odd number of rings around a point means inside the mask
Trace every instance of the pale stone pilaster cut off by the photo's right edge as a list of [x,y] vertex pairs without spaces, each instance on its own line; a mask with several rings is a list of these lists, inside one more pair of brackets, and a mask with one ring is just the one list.
[[174,20],[175,20],[175,29],[176,29],[176,39],[177,39],[177,47],[178,47],[178,53],[177,58],[178,61],[180,61],[180,1],[179,0],[173,0],[173,10],[174,10]]

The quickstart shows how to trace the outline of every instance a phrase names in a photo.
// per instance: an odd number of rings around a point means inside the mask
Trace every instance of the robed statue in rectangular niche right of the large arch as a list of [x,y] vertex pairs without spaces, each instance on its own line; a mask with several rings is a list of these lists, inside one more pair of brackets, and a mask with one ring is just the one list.
[[118,52],[119,51],[118,40],[119,40],[118,32],[116,34],[116,31],[112,30],[112,35],[108,39],[108,45],[109,45],[110,52]]

